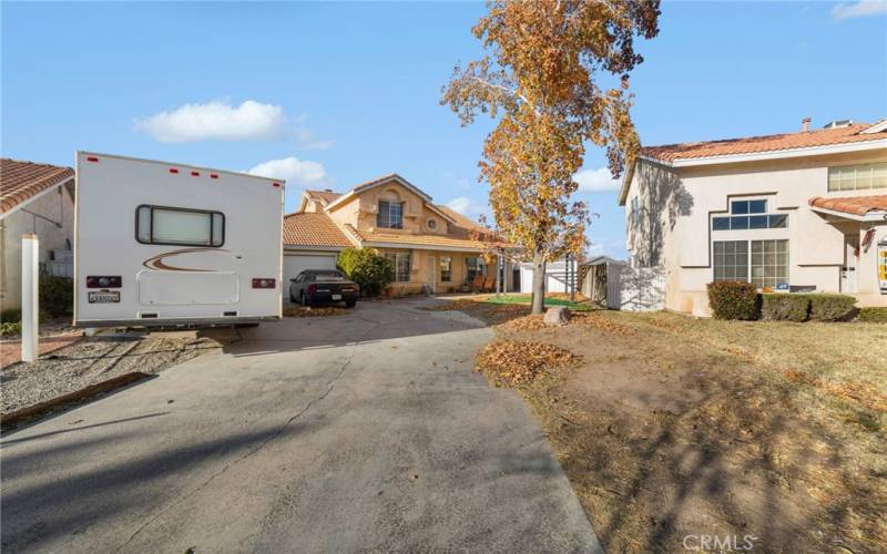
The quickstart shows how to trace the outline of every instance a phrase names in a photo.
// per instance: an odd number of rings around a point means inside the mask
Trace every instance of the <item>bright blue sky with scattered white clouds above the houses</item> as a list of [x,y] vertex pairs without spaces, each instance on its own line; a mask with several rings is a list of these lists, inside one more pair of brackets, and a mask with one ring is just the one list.
[[[396,172],[476,216],[481,144],[439,105],[481,55],[481,3],[2,2],[2,155],[71,165],[93,150],[344,191]],[[644,144],[887,116],[887,3],[666,2],[640,42]],[[623,215],[590,147],[592,252],[624,256]]]

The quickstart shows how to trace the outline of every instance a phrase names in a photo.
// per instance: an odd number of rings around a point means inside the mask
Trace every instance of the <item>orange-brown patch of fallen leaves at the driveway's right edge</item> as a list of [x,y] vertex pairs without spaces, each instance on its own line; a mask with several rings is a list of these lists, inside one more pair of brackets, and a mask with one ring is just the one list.
[[526,384],[549,368],[564,367],[581,357],[547,342],[536,340],[498,340],[481,348],[477,370],[490,376],[498,384]]

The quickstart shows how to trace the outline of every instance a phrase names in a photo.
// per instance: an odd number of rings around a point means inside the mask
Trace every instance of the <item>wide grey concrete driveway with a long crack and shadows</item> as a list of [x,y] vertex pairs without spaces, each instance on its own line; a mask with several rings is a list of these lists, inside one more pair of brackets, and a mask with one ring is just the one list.
[[538,425],[417,301],[242,330],[2,440],[3,552],[595,552]]

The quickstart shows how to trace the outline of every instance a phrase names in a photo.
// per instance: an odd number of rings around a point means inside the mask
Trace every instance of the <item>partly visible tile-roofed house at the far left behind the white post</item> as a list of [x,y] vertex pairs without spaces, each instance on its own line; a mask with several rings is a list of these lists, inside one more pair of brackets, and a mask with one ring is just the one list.
[[21,238],[35,234],[40,266],[72,277],[74,171],[0,160],[0,309],[21,307]]

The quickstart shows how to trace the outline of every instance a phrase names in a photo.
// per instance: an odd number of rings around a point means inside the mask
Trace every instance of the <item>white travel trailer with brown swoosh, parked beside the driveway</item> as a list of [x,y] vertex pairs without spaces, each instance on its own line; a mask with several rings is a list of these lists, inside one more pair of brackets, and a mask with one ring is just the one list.
[[284,182],[77,153],[74,325],[281,317]]

